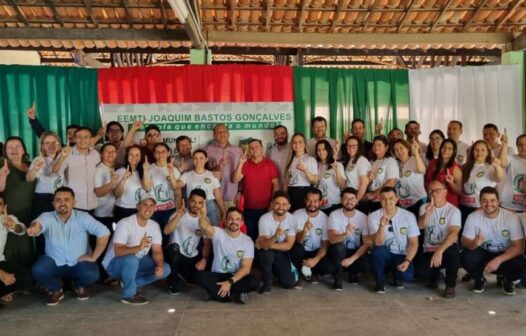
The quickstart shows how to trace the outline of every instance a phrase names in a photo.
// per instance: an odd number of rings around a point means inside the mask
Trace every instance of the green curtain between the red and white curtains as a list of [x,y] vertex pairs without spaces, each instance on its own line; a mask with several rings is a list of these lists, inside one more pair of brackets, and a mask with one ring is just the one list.
[[383,132],[398,127],[397,111],[409,106],[407,70],[294,68],[295,131],[310,137],[310,121],[327,116],[328,134],[341,139],[355,118],[365,121],[366,137],[382,115]]

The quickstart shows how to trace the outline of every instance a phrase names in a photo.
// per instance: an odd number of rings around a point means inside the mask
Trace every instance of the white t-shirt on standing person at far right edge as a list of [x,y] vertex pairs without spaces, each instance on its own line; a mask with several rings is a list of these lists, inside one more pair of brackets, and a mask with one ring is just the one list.
[[524,190],[522,185],[526,178],[526,159],[518,155],[508,155],[506,178],[498,184],[501,206],[515,211],[524,211]]

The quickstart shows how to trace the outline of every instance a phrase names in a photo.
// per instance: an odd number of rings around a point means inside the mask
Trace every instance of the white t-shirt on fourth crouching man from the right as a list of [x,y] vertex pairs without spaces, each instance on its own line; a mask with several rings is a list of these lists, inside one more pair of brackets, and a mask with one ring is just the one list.
[[343,209],[331,212],[328,224],[329,230],[334,230],[337,234],[342,234],[347,230],[348,224],[354,226],[354,232],[343,241],[343,244],[348,250],[356,250],[362,245],[362,235],[369,235],[367,216],[358,210],[354,210],[352,217],[345,216]]

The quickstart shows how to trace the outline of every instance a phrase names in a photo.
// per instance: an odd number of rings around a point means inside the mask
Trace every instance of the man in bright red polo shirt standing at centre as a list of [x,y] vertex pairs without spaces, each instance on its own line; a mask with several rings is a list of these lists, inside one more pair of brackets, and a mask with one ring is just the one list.
[[248,235],[255,241],[259,219],[268,211],[272,194],[279,190],[278,169],[272,160],[264,156],[261,140],[249,141],[248,155],[239,159],[232,180],[237,183],[243,181],[245,223]]

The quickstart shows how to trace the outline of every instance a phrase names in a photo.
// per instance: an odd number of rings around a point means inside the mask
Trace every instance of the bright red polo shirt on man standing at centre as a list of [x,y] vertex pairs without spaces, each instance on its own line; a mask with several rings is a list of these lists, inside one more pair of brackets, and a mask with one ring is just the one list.
[[260,163],[247,160],[241,170],[246,209],[266,209],[272,199],[272,180],[279,179],[274,161],[263,158]]

